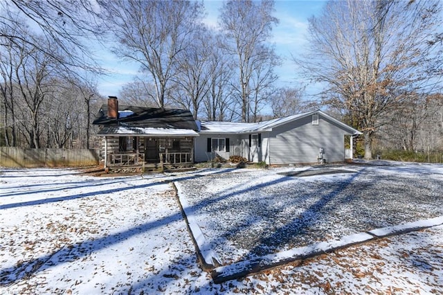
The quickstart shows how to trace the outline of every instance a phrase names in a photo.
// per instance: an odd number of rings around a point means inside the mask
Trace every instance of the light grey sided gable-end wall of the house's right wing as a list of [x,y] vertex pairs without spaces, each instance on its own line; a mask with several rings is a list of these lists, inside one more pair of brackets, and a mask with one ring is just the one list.
[[269,134],[271,164],[317,163],[320,147],[327,162],[345,161],[344,136],[340,126],[319,116],[318,125],[312,116],[275,127]]

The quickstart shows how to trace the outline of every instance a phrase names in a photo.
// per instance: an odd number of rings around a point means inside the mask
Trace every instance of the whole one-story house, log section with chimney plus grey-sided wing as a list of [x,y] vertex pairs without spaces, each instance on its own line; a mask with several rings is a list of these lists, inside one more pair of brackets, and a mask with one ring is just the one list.
[[185,109],[118,105],[109,96],[93,125],[102,136],[105,168],[187,167],[215,157],[240,156],[273,165],[343,162],[358,130],[323,111],[266,120],[233,123],[194,120]]

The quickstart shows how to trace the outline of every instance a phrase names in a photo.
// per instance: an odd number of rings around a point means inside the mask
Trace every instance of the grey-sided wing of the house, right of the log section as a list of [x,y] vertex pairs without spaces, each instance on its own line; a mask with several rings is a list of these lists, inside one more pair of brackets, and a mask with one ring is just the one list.
[[[343,162],[345,136],[350,136],[352,147],[353,137],[360,134],[320,110],[260,123],[201,121],[195,161],[239,155],[269,165]],[[352,151],[348,154],[352,157]]]

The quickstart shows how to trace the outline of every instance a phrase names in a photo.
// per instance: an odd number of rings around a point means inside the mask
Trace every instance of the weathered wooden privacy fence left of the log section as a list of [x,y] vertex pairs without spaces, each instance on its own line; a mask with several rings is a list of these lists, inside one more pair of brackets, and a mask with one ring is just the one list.
[[100,150],[98,149],[0,147],[0,166],[3,167],[77,167],[98,165],[99,161]]

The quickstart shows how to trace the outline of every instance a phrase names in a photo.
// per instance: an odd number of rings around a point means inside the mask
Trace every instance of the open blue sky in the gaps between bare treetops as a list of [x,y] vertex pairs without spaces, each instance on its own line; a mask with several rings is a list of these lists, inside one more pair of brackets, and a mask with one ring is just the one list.
[[[222,1],[204,1],[208,15],[205,23],[217,26],[217,17]],[[311,15],[318,15],[325,1],[275,1],[274,16],[280,23],[273,29],[271,44],[275,44],[275,51],[282,57],[282,66],[277,69],[281,86],[298,86],[294,64],[291,54],[302,52],[306,45],[307,19]],[[98,91],[103,96],[118,96],[118,91],[137,74],[138,66],[128,62],[119,61],[112,53],[100,53],[102,66],[111,71],[111,74],[98,80]]]

